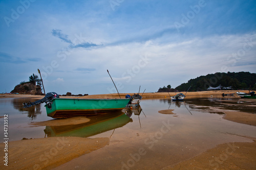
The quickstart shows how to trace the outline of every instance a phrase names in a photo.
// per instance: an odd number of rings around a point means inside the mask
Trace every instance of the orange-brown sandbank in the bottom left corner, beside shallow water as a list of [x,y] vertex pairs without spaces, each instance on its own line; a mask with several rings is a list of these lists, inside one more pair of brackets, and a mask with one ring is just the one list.
[[[8,142],[8,169],[52,169],[109,144],[109,138],[48,137]],[[5,144],[0,143],[4,151]],[[2,162],[0,169],[7,166]]]

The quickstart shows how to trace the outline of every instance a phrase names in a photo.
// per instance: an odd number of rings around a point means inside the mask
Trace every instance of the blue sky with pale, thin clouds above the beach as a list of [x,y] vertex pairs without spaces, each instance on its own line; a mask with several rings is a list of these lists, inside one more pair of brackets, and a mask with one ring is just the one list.
[[[0,1],[0,92],[40,69],[46,92],[155,92],[256,72],[255,1]],[[218,85],[216,85],[218,86]]]

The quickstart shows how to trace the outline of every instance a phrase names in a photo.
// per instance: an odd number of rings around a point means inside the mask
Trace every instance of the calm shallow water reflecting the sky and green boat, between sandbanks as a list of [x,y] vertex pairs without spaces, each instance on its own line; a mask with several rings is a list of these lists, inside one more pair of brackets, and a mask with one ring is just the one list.
[[[223,111],[255,112],[255,102],[232,98],[209,98],[172,102],[142,100],[141,110],[126,114],[89,117],[75,126],[29,125],[51,120],[44,104],[22,108],[31,99],[0,99],[1,116],[8,114],[9,141],[50,136],[109,137],[110,144],[67,162],[56,169],[161,169],[214,148],[224,142],[251,142],[256,127],[223,119]],[[33,102],[33,100],[31,100]],[[174,114],[158,111],[173,109]],[[130,112],[131,113],[131,112]],[[139,115],[138,115],[139,114]],[[4,127],[4,119],[0,118]],[[72,129],[72,130],[70,130]],[[1,134],[4,134],[1,128]],[[2,135],[1,135],[2,136]],[[3,142],[3,138],[1,138]]]

